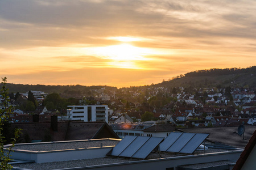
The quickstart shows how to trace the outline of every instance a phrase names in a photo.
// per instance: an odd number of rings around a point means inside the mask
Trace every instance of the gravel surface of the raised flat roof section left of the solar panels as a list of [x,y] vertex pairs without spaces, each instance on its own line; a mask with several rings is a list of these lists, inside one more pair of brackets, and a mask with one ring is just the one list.
[[82,141],[82,142],[63,142],[63,143],[43,143],[35,145],[17,145],[14,150],[27,151],[54,151],[54,150],[68,150],[76,148],[89,148],[102,146],[115,146],[119,141],[101,140],[101,141]]

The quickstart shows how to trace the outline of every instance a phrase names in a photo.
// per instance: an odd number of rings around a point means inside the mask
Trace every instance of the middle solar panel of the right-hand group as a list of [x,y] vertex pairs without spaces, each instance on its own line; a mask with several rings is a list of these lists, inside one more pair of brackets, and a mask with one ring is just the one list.
[[183,133],[175,142],[172,144],[170,148],[168,148],[167,152],[180,152],[180,150],[192,139],[195,133]]

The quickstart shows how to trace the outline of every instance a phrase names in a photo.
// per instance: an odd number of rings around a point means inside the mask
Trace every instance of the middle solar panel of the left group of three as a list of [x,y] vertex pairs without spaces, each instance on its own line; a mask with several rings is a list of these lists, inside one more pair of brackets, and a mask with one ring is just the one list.
[[150,137],[136,138],[119,156],[132,157],[141,148]]

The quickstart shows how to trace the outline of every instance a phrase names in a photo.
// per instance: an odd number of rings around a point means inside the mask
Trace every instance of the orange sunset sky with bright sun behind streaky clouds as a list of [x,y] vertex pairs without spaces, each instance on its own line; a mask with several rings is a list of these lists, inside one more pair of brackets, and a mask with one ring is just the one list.
[[115,87],[255,65],[256,1],[1,0],[9,83]]

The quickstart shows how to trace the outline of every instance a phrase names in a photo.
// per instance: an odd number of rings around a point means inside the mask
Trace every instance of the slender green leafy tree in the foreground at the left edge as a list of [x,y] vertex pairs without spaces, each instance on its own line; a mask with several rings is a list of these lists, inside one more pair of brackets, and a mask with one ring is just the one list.
[[6,87],[7,78],[2,78],[2,88],[1,88],[1,96],[3,99],[2,108],[0,109],[0,157],[1,157],[1,163],[0,163],[0,169],[12,169],[13,167],[8,164],[11,162],[10,154],[13,151],[13,147],[16,143],[16,140],[19,138],[20,129],[15,129],[14,131],[14,137],[12,138],[13,141],[11,141],[11,145],[7,147],[7,149],[4,148],[5,140],[5,134],[3,134],[3,128],[5,122],[9,121],[9,114],[11,113],[11,106],[9,106],[8,102],[8,88]]

